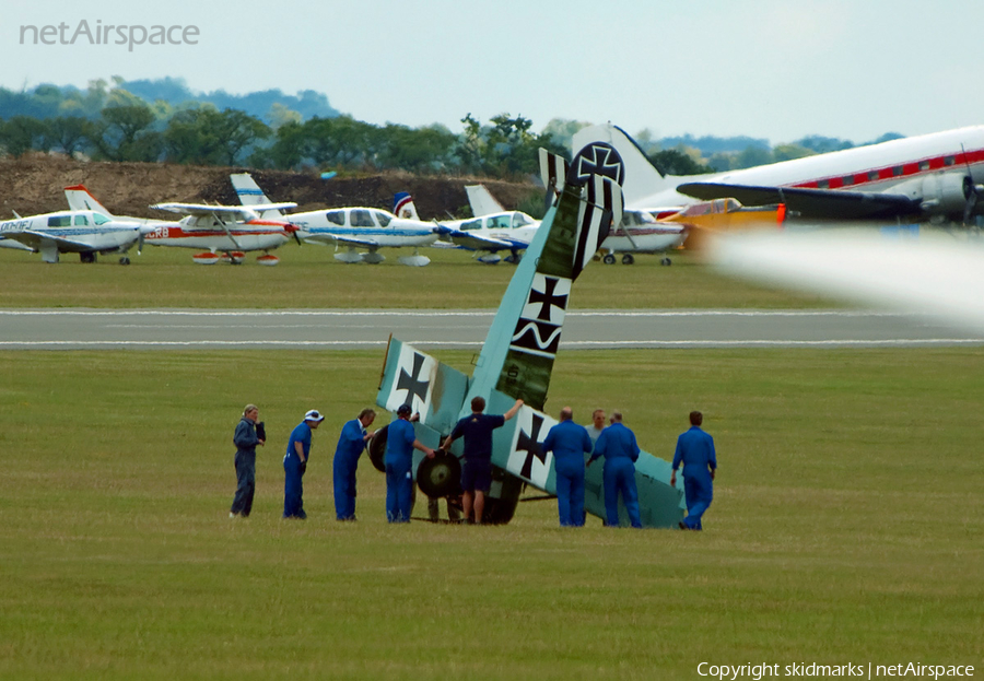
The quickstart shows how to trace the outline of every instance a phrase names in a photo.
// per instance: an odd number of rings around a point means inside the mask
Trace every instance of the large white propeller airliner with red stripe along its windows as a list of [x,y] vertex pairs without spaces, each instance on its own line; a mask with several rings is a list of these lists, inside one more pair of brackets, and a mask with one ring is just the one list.
[[790,216],[934,221],[976,214],[984,197],[984,126],[892,140],[712,175],[660,174],[624,130],[591,126],[576,145],[606,142],[629,168],[625,203],[663,218],[696,200],[735,198],[745,206],[784,203]]

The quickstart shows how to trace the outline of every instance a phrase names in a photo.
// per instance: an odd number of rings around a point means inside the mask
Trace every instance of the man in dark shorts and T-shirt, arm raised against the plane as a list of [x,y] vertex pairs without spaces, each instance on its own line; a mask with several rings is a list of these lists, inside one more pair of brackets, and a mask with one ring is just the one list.
[[452,434],[444,441],[445,451],[450,450],[450,444],[465,436],[465,470],[461,471],[461,489],[465,491],[461,505],[465,507],[465,521],[471,516],[475,508],[475,523],[481,525],[482,512],[485,508],[485,493],[492,486],[492,431],[516,415],[523,400],[516,400],[513,408],[501,416],[484,414],[485,399],[472,398],[471,415],[465,416],[457,424]]

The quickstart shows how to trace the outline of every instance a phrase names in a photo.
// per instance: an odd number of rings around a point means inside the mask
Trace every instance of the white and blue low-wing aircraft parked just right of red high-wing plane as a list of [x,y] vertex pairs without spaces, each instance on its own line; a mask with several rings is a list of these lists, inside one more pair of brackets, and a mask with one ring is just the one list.
[[[248,173],[231,175],[233,187],[245,207],[270,213],[274,204],[259,188]],[[279,211],[276,213],[280,216]],[[412,256],[403,256],[399,261],[411,267],[422,267],[431,259],[419,253],[420,246],[429,246],[437,240],[441,227],[437,225],[397,218],[393,213],[376,208],[338,208],[305,213],[291,213],[283,220],[297,225],[297,236],[312,244],[333,244],[347,247],[336,253],[336,260],[342,262],[368,262],[376,265],[385,260],[379,248],[413,248]],[[361,253],[364,248],[367,253]]]

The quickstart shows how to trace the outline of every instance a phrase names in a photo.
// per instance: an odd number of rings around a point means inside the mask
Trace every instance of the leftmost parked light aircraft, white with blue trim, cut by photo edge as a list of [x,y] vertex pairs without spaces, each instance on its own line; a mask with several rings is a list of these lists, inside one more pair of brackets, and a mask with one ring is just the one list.
[[127,253],[153,226],[142,221],[113,218],[98,210],[69,210],[0,222],[0,236],[16,242],[45,262],[58,262],[59,254],[77,253],[82,262],[95,262],[97,254],[121,254],[120,265],[129,265]]

